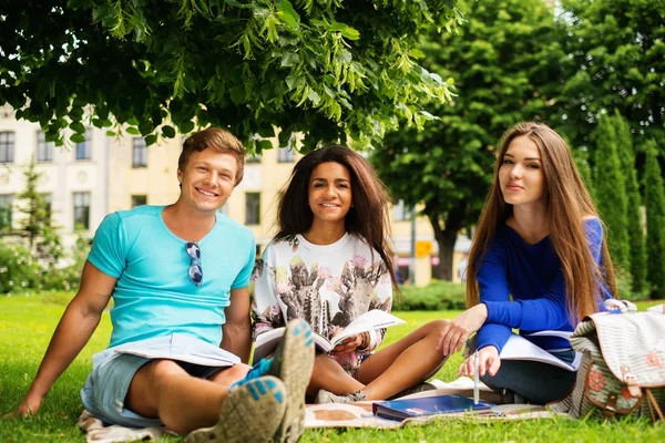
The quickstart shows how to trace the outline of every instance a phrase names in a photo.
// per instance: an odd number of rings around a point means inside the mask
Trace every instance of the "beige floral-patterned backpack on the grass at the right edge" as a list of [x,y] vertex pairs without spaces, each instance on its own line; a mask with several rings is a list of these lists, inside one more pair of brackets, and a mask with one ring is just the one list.
[[573,418],[587,414],[665,421],[665,315],[594,313],[577,324],[571,344],[583,353],[575,388],[549,403]]

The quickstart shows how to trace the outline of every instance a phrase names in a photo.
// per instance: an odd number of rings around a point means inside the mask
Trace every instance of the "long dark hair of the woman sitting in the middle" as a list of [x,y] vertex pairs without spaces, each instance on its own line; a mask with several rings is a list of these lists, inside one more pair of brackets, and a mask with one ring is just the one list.
[[345,166],[351,176],[354,206],[345,218],[346,230],[357,234],[379,254],[388,268],[392,285],[397,287],[392,248],[388,241],[390,196],[369,162],[349,147],[341,145],[321,147],[305,155],[294,166],[290,178],[285,185],[286,190],[279,197],[278,231],[275,241],[309,229],[314,220],[308,198],[309,178],[318,165],[329,162]]

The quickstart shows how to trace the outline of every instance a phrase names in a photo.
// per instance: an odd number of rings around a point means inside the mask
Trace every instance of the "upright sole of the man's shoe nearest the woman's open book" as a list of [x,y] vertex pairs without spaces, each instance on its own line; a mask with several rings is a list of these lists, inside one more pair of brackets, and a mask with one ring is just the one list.
[[287,323],[268,373],[280,379],[288,392],[276,442],[297,442],[305,430],[305,393],[314,369],[314,334],[307,321]]

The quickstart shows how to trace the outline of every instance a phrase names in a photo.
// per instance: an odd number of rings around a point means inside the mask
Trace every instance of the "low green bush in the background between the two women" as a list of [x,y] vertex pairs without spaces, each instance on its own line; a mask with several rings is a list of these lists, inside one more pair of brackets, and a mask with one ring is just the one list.
[[466,286],[451,281],[433,281],[418,288],[402,286],[402,296],[396,296],[392,309],[400,311],[440,311],[466,309]]

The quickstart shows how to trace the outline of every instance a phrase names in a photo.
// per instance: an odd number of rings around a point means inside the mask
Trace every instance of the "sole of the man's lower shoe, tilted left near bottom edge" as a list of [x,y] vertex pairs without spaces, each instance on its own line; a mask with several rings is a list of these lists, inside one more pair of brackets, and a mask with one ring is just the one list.
[[287,400],[282,380],[270,375],[249,380],[228,394],[217,424],[191,432],[185,443],[269,442],[282,423]]

